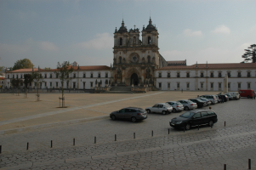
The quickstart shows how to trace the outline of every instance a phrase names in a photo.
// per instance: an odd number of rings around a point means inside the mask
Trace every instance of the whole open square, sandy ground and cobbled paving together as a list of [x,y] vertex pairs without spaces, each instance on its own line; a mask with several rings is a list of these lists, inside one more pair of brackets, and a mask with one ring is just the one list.
[[[2,169],[252,169],[256,168],[256,100],[210,105],[213,128],[177,130],[168,122],[182,112],[151,113],[141,122],[112,121],[111,111],[216,92],[146,94],[0,94]],[[208,107],[205,107],[208,108]],[[115,138],[116,135],[116,138]],[[74,140],[75,139],[75,140]],[[115,141],[116,140],[116,141]],[[52,148],[51,148],[52,141]],[[29,148],[26,150],[27,143]]]

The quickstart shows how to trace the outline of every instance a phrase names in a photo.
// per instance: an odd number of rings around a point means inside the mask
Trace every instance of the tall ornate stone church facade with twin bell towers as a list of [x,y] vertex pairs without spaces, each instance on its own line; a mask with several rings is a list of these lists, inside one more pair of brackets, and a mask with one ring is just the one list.
[[152,25],[143,26],[142,41],[139,28],[128,30],[122,26],[114,33],[114,57],[112,81],[117,84],[156,84],[155,70],[167,66],[167,61],[159,54],[158,31]]

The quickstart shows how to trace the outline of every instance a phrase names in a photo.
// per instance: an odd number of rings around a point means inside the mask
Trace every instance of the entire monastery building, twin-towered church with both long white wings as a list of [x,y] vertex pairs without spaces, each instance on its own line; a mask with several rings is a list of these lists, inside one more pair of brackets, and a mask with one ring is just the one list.
[[[141,34],[141,39],[140,39]],[[159,90],[238,91],[256,90],[256,63],[196,64],[186,65],[186,60],[166,61],[159,53],[156,26],[149,24],[127,29],[122,20],[114,32],[113,65],[79,66],[72,64],[71,81],[64,88],[94,89],[95,87],[134,86],[155,87]],[[5,87],[11,87],[12,78],[40,71],[44,82],[40,88],[60,88],[55,69],[38,68],[7,71]],[[226,78],[225,78],[226,77]],[[227,86],[227,87],[226,87]],[[35,83],[31,83],[31,88]]]

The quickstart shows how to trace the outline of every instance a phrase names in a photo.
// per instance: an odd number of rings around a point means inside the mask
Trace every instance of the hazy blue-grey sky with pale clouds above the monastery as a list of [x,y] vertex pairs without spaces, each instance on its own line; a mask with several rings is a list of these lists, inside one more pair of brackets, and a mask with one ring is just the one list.
[[255,7],[255,0],[0,0],[0,66],[25,58],[41,68],[110,66],[122,18],[141,31],[150,14],[166,60],[241,62],[256,43]]

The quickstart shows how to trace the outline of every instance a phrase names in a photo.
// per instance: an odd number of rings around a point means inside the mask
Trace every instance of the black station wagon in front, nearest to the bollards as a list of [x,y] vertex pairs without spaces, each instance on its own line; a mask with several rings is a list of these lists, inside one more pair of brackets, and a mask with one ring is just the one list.
[[192,126],[208,124],[210,127],[213,123],[218,122],[217,115],[211,110],[187,111],[179,117],[170,121],[170,126],[175,128],[185,128],[189,130]]

